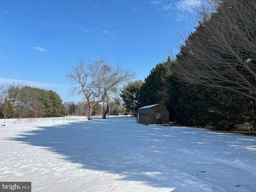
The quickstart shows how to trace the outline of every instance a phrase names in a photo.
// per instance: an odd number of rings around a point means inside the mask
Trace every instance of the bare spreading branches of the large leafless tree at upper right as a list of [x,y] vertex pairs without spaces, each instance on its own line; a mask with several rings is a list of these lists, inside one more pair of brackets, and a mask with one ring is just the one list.
[[206,0],[172,71],[182,82],[256,99],[256,1]]

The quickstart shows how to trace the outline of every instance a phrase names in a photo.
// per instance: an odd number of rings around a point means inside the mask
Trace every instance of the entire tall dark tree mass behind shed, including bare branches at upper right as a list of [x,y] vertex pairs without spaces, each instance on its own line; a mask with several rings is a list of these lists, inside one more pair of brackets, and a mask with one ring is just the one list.
[[[162,104],[179,124],[254,130],[255,10],[254,0],[204,1],[197,7],[198,26],[180,42],[180,52],[157,64],[132,93],[136,109]],[[121,90],[126,106],[127,91]]]

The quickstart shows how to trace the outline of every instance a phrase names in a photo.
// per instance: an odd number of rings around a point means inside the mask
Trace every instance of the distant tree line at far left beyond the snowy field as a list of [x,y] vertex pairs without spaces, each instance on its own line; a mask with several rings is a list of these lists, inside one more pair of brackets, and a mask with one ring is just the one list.
[[60,117],[65,114],[60,96],[52,90],[2,85],[0,90],[0,118]]

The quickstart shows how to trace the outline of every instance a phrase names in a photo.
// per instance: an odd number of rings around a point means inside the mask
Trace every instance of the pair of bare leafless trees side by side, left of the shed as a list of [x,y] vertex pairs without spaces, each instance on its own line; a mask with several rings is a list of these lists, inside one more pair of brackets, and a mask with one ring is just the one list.
[[92,119],[92,108],[97,102],[106,102],[107,109],[103,109],[102,118],[106,118],[110,99],[117,94],[119,85],[135,76],[131,68],[123,69],[121,64],[116,68],[107,63],[107,58],[89,60],[82,57],[76,60],[76,66],[66,75],[74,83],[72,94],[84,94],[89,105],[88,120]]

